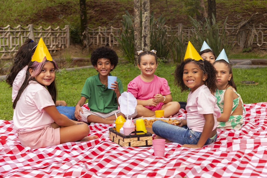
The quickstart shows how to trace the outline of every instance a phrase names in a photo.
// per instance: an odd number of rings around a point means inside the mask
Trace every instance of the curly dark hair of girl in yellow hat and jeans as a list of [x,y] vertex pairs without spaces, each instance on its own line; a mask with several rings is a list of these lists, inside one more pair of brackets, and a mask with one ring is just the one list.
[[186,59],[183,62],[181,62],[180,65],[177,65],[176,70],[175,70],[175,76],[174,76],[174,81],[175,84],[179,87],[181,87],[182,92],[185,90],[188,90],[188,87],[184,84],[183,82],[183,69],[184,65],[186,65],[189,62],[193,62],[196,64],[204,74],[207,74],[207,79],[205,81],[205,85],[210,89],[210,92],[213,93],[215,92],[217,86],[216,86],[216,81],[217,81],[217,71],[213,67],[213,65],[209,61],[196,61],[193,59]]

